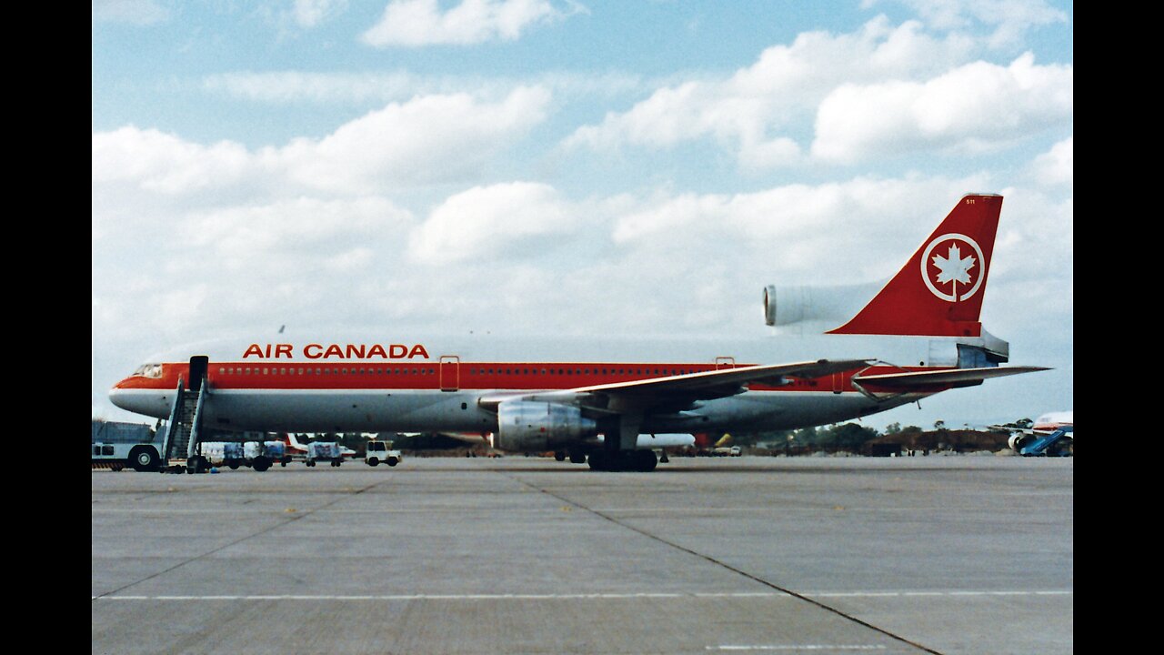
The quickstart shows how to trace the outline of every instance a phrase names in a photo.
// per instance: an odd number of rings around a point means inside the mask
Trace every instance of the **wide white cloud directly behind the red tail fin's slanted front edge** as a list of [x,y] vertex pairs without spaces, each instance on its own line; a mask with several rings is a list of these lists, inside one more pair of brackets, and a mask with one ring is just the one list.
[[[783,275],[780,283],[822,283],[822,270],[829,272],[830,284],[868,282],[895,273],[913,252],[906,251],[959,197],[989,188],[985,176],[857,177],[750,193],[684,193],[655,199],[648,209],[619,217],[612,239],[636,252],[698,252],[704,260],[722,256],[746,272],[753,284],[758,282],[754,276],[767,272]],[[761,286],[768,282],[776,280],[759,281]]]

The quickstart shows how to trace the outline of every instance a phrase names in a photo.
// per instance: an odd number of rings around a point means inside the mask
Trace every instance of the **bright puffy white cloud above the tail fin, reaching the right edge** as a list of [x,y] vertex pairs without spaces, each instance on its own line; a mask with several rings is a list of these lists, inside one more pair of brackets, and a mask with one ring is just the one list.
[[988,152],[1071,120],[1071,65],[974,62],[924,83],[846,84],[821,103],[814,157],[853,163],[920,149]]

